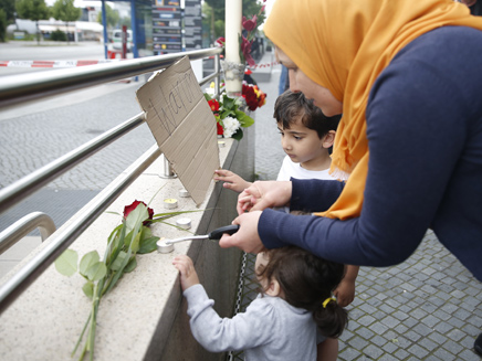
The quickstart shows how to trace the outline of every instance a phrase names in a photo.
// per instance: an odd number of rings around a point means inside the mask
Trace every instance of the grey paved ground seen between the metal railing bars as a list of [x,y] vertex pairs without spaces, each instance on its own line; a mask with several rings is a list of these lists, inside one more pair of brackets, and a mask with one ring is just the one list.
[[[135,91],[142,84],[92,88],[96,96],[80,103],[80,93],[69,94],[56,100],[61,106],[35,112],[41,105],[28,105],[18,117],[0,110],[0,189],[139,114]],[[49,214],[61,226],[154,144],[147,124],[139,126],[1,213],[0,232],[34,211]]]

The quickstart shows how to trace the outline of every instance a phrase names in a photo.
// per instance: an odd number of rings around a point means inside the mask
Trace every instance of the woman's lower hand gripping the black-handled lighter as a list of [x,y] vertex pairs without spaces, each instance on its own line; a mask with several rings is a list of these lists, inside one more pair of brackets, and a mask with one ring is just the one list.
[[222,248],[238,247],[247,253],[254,254],[265,251],[258,234],[258,222],[260,221],[260,211],[253,211],[241,214],[234,219],[232,224],[239,224],[239,231],[233,235],[224,234],[219,241],[219,246]]

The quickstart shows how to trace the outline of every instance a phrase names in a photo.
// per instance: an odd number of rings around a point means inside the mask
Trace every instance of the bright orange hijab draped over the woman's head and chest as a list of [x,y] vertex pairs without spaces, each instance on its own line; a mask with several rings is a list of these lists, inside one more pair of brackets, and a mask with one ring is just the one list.
[[[482,29],[452,0],[276,0],[265,35],[343,103],[331,173],[349,174],[332,219],[359,216],[368,171],[365,110],[380,72],[410,41],[443,25]],[[343,177],[340,177],[343,178]]]

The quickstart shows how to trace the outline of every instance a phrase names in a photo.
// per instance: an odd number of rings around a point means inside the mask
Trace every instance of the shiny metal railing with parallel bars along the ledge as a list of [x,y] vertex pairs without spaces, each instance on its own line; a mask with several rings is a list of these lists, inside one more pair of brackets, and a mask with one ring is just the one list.
[[[3,76],[0,82],[0,107],[3,108],[6,106],[65,94],[66,92],[78,91],[81,88],[166,68],[184,56],[189,56],[191,61],[214,56],[214,72],[202,78],[199,82],[199,85],[202,86],[208,82],[214,81],[214,94],[219,94],[219,55],[221,51],[221,49],[213,47],[168,55],[125,60],[118,63]],[[59,178],[71,168],[92,157],[107,145],[125,136],[127,132],[144,123],[144,113],[140,113],[119,126],[107,130],[93,140],[20,179],[13,184],[3,188],[0,190],[0,213],[18,204],[28,195],[38,191],[46,183]],[[139,159],[137,159],[122,177],[118,177],[115,181],[108,184],[94,199],[94,201],[90,203],[87,209],[84,208],[82,213],[77,213],[75,219],[73,219],[72,222],[62,230],[62,232],[57,231],[53,235],[54,238],[50,240],[45,247],[43,247],[18,273],[8,279],[0,288],[0,312],[3,312],[3,310],[6,310],[14,299],[22,294],[23,290],[25,290],[160,155],[160,149],[157,145],[154,145]],[[38,221],[38,217],[32,216],[32,219],[27,223],[18,223],[18,226],[14,229],[9,227],[8,236],[4,240],[0,240],[0,249],[12,245],[14,243],[12,240],[19,238],[19,236],[25,232],[25,227],[36,227],[32,222]],[[51,229],[49,230],[52,231]]]

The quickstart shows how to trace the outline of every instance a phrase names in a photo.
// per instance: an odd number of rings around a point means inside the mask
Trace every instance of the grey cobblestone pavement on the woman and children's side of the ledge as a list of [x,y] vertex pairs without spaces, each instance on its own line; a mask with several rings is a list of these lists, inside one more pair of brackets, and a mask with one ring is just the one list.
[[[284,157],[272,119],[279,75],[275,67],[269,82],[259,82],[269,94],[266,106],[256,110],[255,167],[260,179],[275,179]],[[256,295],[254,256],[247,256],[241,311]],[[482,332],[482,283],[431,231],[402,264],[360,267],[356,298],[347,310],[349,323],[339,339],[338,360],[481,360],[473,342]],[[242,352],[233,354],[233,360],[242,357]]]

